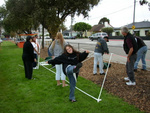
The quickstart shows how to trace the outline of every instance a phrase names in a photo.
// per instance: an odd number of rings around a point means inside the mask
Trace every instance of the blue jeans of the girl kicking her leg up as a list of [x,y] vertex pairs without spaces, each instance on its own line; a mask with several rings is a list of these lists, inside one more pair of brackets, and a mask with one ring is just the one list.
[[70,94],[69,94],[69,99],[71,100],[75,100],[75,96],[74,96],[74,93],[75,93],[75,87],[76,87],[76,81],[75,81],[75,78],[73,76],[73,69],[74,69],[75,66],[68,66],[67,69],[66,69],[66,73],[67,73],[67,76],[69,78],[69,82],[70,82]]

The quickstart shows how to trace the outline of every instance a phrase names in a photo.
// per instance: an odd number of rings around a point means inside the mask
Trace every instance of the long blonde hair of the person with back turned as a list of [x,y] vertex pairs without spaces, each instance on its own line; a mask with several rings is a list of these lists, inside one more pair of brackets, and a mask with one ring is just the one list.
[[59,44],[61,45],[62,48],[64,48],[64,38],[63,38],[63,35],[61,32],[58,32],[56,37],[55,37],[55,40],[53,41],[53,45],[52,45],[52,48],[54,49],[55,47],[55,42],[56,40],[58,40]]

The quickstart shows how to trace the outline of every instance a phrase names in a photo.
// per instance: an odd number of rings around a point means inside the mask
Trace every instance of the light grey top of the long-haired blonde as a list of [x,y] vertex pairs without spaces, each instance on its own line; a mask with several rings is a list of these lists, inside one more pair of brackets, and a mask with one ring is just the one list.
[[54,46],[54,48],[52,48],[53,43],[51,44],[49,51],[52,54],[52,56],[58,57],[64,52],[64,47],[65,47],[65,45],[67,45],[67,43],[64,41],[64,46],[62,48],[59,41],[55,40],[55,46]]

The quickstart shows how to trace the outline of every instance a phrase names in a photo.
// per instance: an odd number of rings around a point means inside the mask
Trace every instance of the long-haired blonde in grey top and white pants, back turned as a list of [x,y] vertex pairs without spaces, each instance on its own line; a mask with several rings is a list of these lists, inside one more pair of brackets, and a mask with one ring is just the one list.
[[[52,58],[54,59],[55,57],[60,56],[64,52],[64,47],[67,43],[64,41],[63,35],[61,32],[58,32],[55,40],[52,42],[49,51],[52,54]],[[57,81],[57,86],[61,85],[60,79],[62,80],[62,87],[68,86],[68,84],[65,83],[66,76],[63,73],[62,70],[62,64],[57,64],[55,65],[56,67],[56,81]]]

